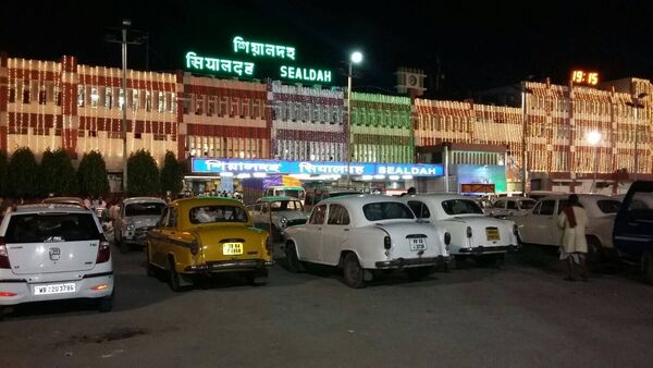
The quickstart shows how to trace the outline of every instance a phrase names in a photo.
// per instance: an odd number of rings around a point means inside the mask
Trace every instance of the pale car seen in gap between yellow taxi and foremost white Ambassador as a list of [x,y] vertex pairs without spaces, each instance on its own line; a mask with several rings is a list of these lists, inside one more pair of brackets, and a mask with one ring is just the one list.
[[293,197],[262,197],[247,208],[254,224],[269,231],[275,242],[282,240],[283,231],[286,228],[305,224],[308,220],[308,214],[304,212],[304,205],[299,199]]

